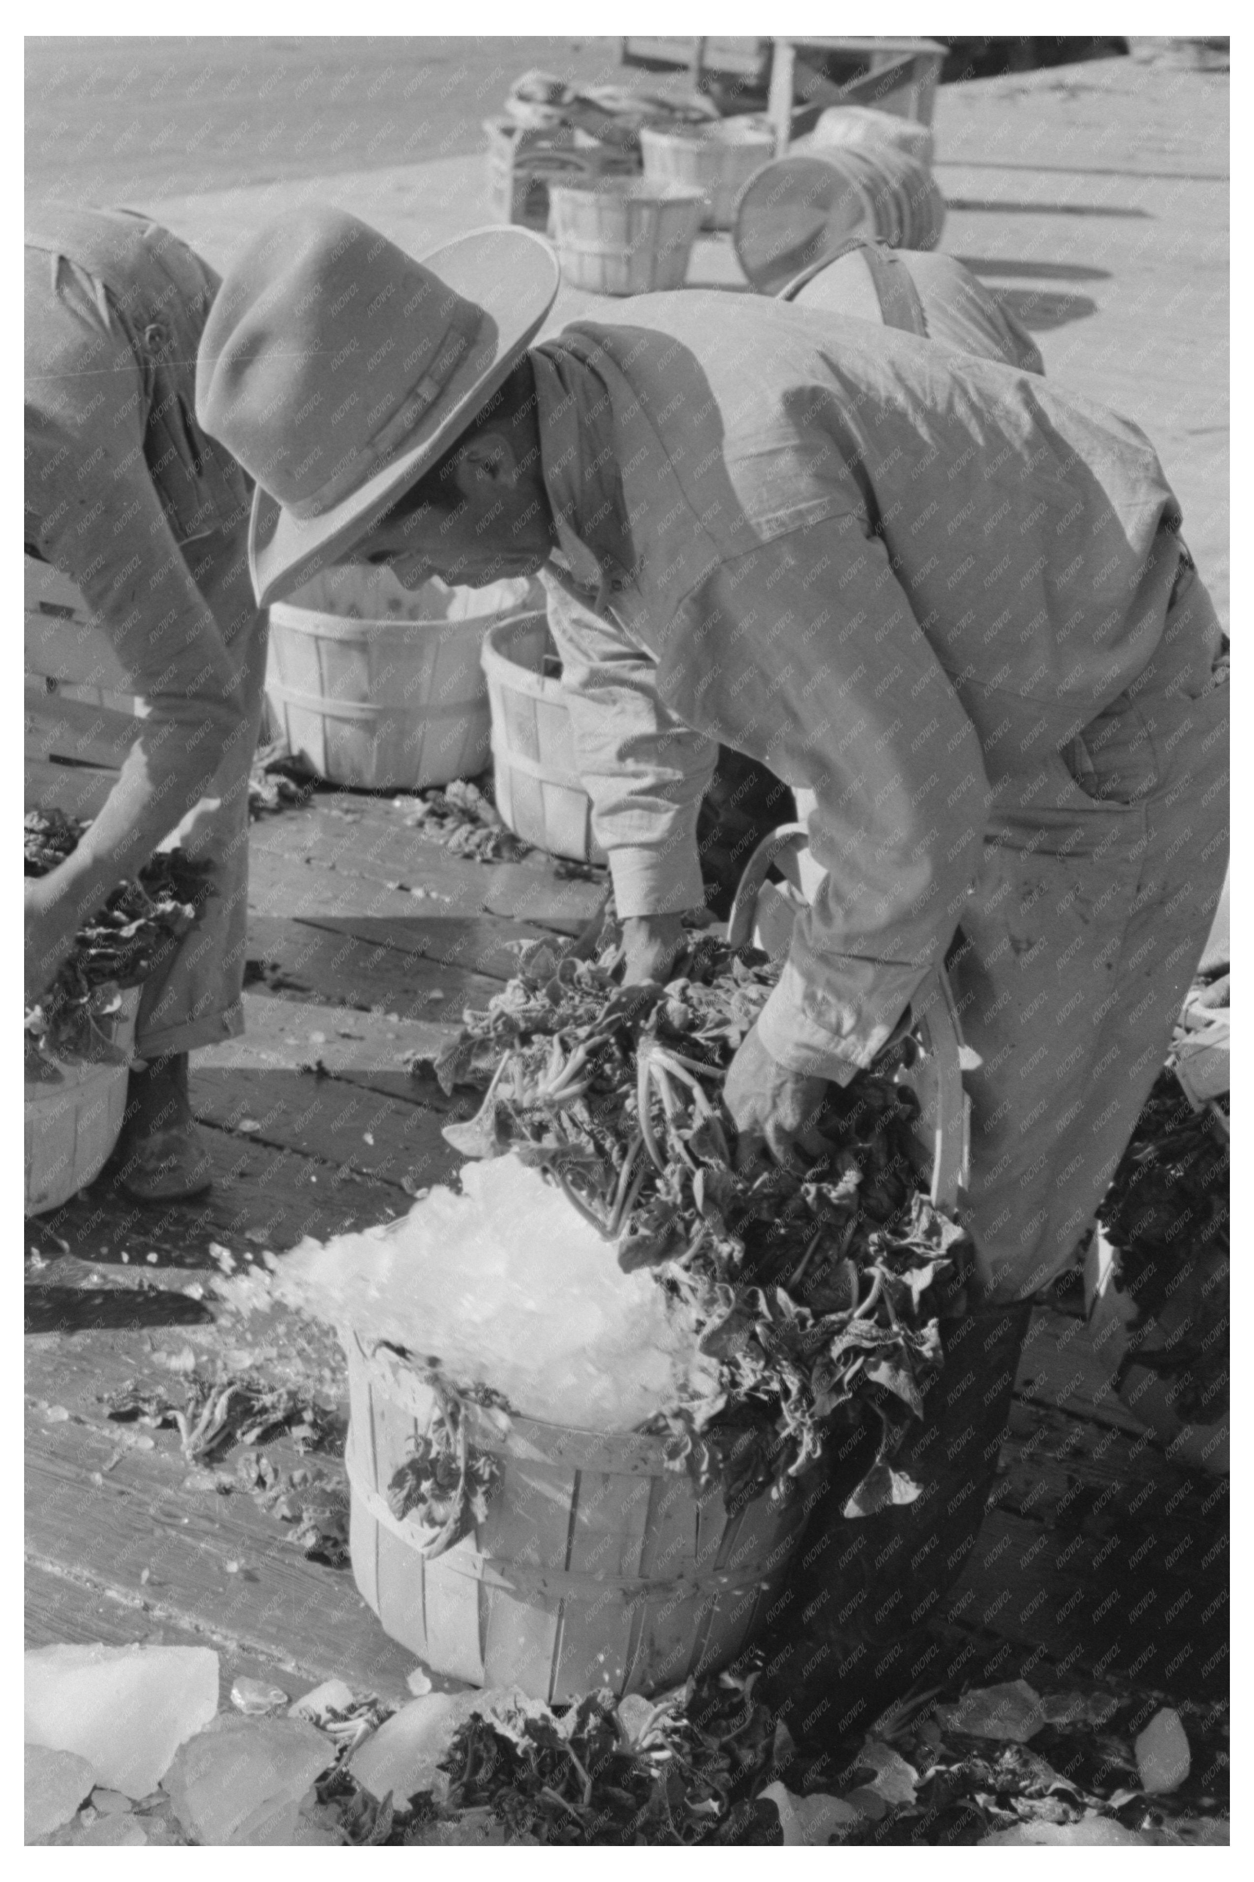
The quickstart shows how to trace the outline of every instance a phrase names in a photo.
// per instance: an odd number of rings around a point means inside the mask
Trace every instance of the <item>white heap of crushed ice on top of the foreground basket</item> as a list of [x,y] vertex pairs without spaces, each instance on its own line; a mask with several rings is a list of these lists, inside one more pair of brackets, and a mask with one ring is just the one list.
[[713,1387],[682,1312],[540,1171],[504,1156],[461,1178],[462,1195],[434,1188],[399,1221],[301,1242],[274,1293],[556,1425],[630,1430]]

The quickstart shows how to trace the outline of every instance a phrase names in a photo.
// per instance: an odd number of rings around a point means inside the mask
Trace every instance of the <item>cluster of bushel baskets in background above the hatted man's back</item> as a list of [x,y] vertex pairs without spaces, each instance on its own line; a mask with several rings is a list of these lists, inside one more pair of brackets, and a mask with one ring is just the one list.
[[496,215],[545,230],[566,280],[594,294],[681,288],[701,230],[729,230],[750,284],[775,294],[850,235],[934,248],[944,226],[931,132],[891,111],[833,107],[776,158],[765,117],[528,72],[485,132]]

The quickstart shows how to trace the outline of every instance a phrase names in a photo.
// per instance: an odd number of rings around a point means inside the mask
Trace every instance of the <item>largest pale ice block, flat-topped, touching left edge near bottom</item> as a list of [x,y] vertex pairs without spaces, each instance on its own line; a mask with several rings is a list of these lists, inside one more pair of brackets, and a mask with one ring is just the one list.
[[26,1741],[77,1752],[98,1782],[147,1797],[184,1739],[218,1711],[211,1647],[36,1647]]

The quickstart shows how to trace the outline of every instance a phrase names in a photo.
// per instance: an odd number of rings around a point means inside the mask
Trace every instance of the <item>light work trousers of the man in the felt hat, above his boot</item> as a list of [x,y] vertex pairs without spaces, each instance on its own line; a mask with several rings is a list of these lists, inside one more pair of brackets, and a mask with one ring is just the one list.
[[[966,1225],[995,1299],[1072,1259],[1168,1056],[1228,862],[1228,689],[1196,578],[1151,683],[1087,732],[1070,830],[1006,819],[949,981],[981,1065]],[[1190,657],[1190,642],[1201,653]]]

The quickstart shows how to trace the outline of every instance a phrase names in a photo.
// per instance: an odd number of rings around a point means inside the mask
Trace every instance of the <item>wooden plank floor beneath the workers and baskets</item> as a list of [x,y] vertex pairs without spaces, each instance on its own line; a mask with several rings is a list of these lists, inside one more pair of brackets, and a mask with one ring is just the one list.
[[[1006,294],[1051,376],[1158,446],[1220,606],[1226,491],[1226,79],[1105,60],[946,87],[944,247]],[[147,203],[216,265],[312,184]],[[423,252],[483,220],[478,158],[340,175],[329,199]],[[737,284],[726,237],[692,279]],[[555,324],[592,305],[564,294]],[[414,894],[423,890],[423,894]],[[305,1235],[387,1221],[453,1169],[449,1107],[406,1056],[451,1037],[513,969],[511,943],[575,932],[598,888],[545,858],[451,858],[395,805],[350,792],[254,826],[246,1033],[194,1061],[214,1189],[139,1208],[96,1184],[28,1223],[28,1641],[211,1641],[224,1681],[297,1692],[338,1673],[402,1696],[410,1656],[352,1573],[310,1562],[239,1487],[105,1417],[126,1380],[252,1366],[342,1396],[335,1349],[216,1297]],[[135,1442],[139,1438],[141,1442]],[[269,1449],[269,1447],[267,1447]],[[282,1445],[278,1462],[295,1462]],[[320,1466],[335,1474],[333,1459]],[[218,1475],[229,1479],[233,1459]],[[949,1603],[970,1679],[1121,1673],[1177,1698],[1226,1690],[1226,1483],[1171,1466],[1115,1398],[1075,1304],[1034,1317],[993,1509]]]

